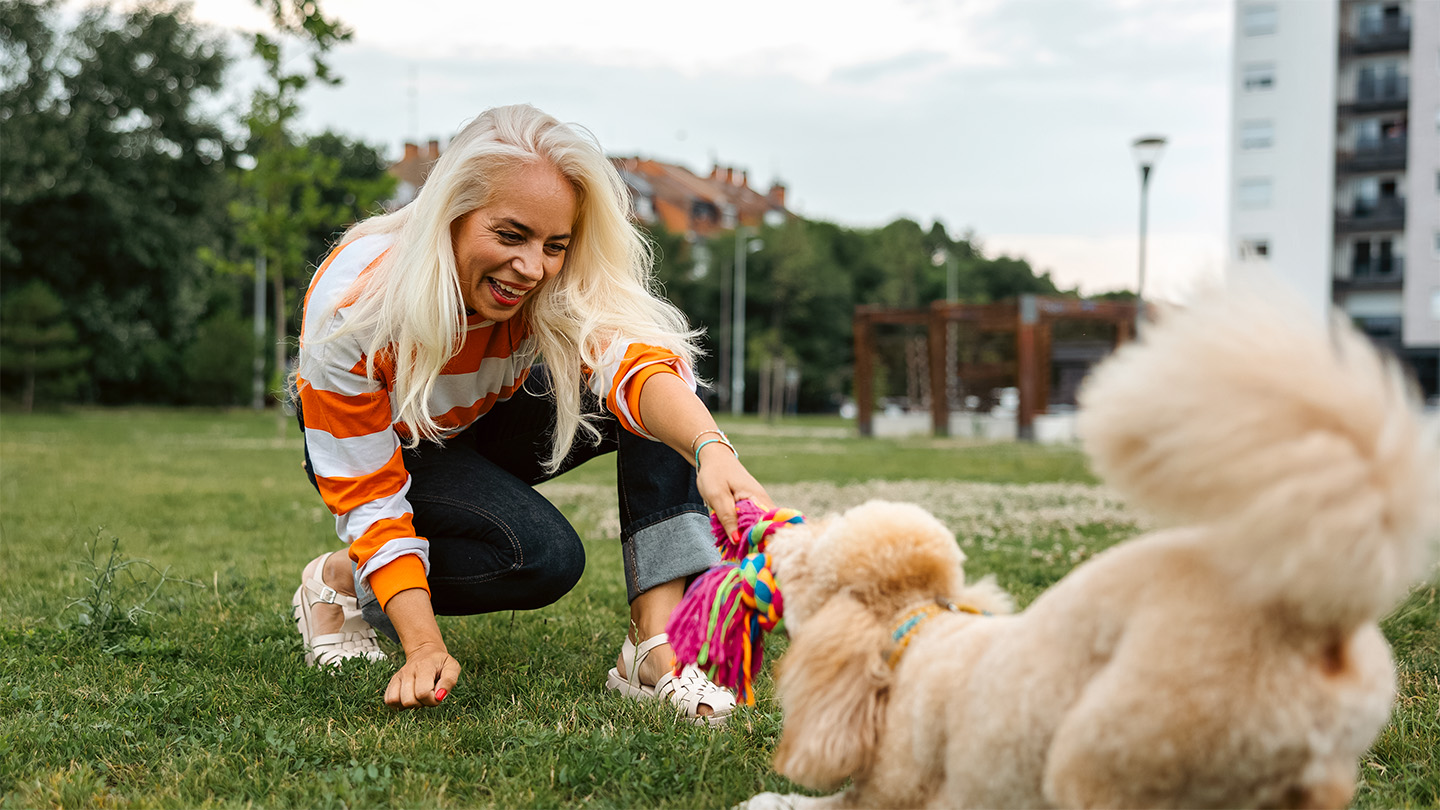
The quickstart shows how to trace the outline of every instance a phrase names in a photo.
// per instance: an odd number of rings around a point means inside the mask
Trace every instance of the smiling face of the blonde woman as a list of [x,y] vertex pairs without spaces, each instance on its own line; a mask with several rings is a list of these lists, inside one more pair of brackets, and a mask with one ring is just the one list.
[[575,186],[544,161],[497,183],[491,203],[451,223],[465,307],[508,320],[560,272],[575,229]]

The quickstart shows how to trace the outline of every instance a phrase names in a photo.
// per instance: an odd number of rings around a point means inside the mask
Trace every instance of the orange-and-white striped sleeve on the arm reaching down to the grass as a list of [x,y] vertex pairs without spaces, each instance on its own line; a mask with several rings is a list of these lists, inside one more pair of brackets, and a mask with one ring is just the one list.
[[[350,543],[359,577],[369,581],[383,608],[400,591],[429,591],[429,543],[415,533],[406,500],[410,476],[392,425],[389,392],[366,376],[359,339],[318,342],[344,321],[344,307],[334,304],[379,257],[363,249],[364,242],[340,248],[311,282],[297,388],[315,484],[336,516],[336,533]],[[356,254],[344,255],[348,251]]]

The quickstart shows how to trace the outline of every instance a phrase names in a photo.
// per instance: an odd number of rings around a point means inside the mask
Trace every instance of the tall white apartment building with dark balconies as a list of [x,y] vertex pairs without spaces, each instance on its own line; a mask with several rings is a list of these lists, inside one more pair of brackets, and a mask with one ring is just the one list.
[[1230,259],[1440,396],[1440,0],[1237,0]]

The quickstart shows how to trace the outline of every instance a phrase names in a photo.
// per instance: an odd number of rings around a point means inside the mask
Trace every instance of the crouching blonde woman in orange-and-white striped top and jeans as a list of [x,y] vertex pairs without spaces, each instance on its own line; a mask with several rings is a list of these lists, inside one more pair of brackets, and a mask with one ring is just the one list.
[[737,499],[769,497],[696,396],[694,333],[651,271],[598,144],[524,105],[481,114],[412,203],[341,238],[295,380],[307,470],[350,545],[301,575],[307,663],[380,659],[380,630],[405,649],[384,702],[439,703],[461,667],[435,615],[564,595],[585,551],[531,487],[616,451],[631,602],[606,686],[729,715],[729,692],[670,672],[664,626],[717,559],[704,504],[733,532]]

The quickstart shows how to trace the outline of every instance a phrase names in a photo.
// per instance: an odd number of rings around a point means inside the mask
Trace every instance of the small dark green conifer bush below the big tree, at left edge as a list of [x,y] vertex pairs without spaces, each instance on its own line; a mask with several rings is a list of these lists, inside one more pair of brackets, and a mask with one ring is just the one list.
[[0,372],[20,378],[26,411],[36,399],[75,396],[82,382],[79,366],[88,356],[65,303],[43,281],[32,280],[0,304]]

